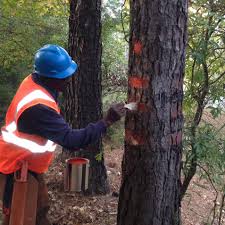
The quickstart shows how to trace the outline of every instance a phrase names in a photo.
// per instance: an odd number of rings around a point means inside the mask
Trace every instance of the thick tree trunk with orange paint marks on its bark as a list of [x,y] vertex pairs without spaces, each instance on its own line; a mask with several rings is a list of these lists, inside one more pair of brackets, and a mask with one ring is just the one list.
[[179,224],[187,0],[131,0],[118,225]]

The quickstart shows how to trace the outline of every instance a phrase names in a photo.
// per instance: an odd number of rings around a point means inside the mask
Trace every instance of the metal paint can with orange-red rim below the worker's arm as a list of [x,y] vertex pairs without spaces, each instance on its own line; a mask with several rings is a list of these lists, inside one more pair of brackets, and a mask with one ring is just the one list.
[[64,190],[81,192],[88,189],[89,160],[71,158],[66,160],[64,169]]

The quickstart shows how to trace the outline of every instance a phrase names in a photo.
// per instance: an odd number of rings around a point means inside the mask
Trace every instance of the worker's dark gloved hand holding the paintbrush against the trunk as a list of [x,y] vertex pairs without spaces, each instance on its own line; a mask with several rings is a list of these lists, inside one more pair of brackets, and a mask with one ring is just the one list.
[[124,108],[124,103],[112,104],[103,120],[107,126],[110,126],[120,120],[120,118],[125,116],[125,114],[126,109]]

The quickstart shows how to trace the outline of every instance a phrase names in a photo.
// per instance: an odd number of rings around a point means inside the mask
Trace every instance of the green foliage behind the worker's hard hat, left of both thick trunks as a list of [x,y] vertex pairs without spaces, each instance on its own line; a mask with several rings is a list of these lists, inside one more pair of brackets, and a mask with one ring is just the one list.
[[[0,1],[0,116],[44,44],[67,46],[67,1]],[[7,89],[7,90],[6,90]],[[1,121],[0,121],[1,123]]]

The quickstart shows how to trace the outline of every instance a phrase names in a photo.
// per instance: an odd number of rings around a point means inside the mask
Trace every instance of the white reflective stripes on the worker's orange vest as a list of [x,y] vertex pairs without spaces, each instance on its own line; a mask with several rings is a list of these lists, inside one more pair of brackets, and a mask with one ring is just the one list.
[[[44,99],[47,101],[55,102],[52,98],[50,98],[47,94],[45,94],[41,90],[35,90],[20,100],[16,108],[16,113],[18,113],[23,106],[32,102],[35,99]],[[15,118],[16,117],[17,115],[15,115]],[[4,130],[2,130],[3,140],[7,143],[25,148],[32,153],[44,153],[47,151],[53,152],[56,148],[56,144],[54,144],[54,142],[50,140],[47,140],[45,145],[40,145],[34,141],[19,137],[16,131],[17,131],[16,121],[13,121],[8,126],[6,126]]]

